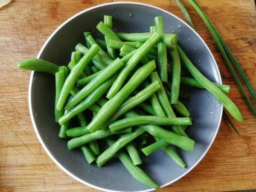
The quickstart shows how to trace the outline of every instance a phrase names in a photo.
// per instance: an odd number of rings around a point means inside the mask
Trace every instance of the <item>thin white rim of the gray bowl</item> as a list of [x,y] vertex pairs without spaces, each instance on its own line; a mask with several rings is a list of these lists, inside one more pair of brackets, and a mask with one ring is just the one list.
[[[66,21],[64,21],[60,26],[58,26],[57,29],[54,30],[54,32],[52,32],[52,34],[49,36],[49,38],[47,39],[47,41],[45,41],[43,47],[40,49],[38,55],[37,55],[37,58],[40,58],[42,52],[44,51],[45,47],[47,46],[47,44],[49,43],[49,41],[52,39],[52,37],[65,25],[67,24],[68,22],[70,22],[70,20],[72,20],[73,18],[83,14],[84,12],[88,12],[90,10],[93,10],[93,9],[96,9],[96,8],[99,8],[99,7],[102,7],[102,6],[109,6],[109,5],[119,5],[119,4],[134,4],[134,5],[141,5],[141,6],[148,6],[148,7],[151,7],[151,8],[154,8],[154,9],[158,9],[160,11],[163,11],[165,12],[166,14],[168,15],[171,15],[172,17],[175,17],[177,18],[178,20],[180,20],[184,25],[186,25],[187,27],[189,27],[196,35],[198,35],[198,38],[200,38],[200,40],[202,41],[202,43],[204,44],[205,48],[207,49],[207,51],[209,52],[209,55],[210,57],[212,58],[215,66],[216,66],[216,71],[218,73],[218,78],[219,78],[219,81],[220,81],[220,84],[222,84],[222,80],[221,80],[221,75],[220,75],[220,71],[219,71],[219,68],[218,68],[218,65],[215,61],[215,58],[213,57],[212,55],[212,52],[210,51],[209,47],[207,46],[207,44],[205,43],[205,41],[201,38],[201,36],[195,31],[195,29],[193,29],[191,26],[189,26],[189,24],[187,24],[185,21],[183,21],[180,17],[177,17],[176,15],[172,14],[171,12],[169,11],[166,11],[162,8],[159,8],[157,6],[153,6],[153,5],[150,5],[150,4],[146,4],[146,3],[138,3],[138,2],[130,2],[130,1],[122,1],[122,2],[111,2],[111,3],[102,3],[100,5],[96,5],[96,6],[92,6],[92,7],[89,7],[87,9],[84,9],[82,10],[81,12],[78,12],[76,13],[75,15],[71,16],[70,18],[68,18]],[[29,113],[30,113],[30,117],[31,117],[31,120],[32,120],[32,125],[34,127],[34,130],[35,130],[35,133],[38,137],[38,140],[40,141],[41,145],[43,146],[44,150],[47,152],[47,154],[49,155],[49,157],[53,160],[53,162],[59,167],[61,168],[62,171],[66,172],[68,175],[70,175],[71,177],[73,177],[74,179],[78,180],[80,183],[83,183],[87,186],[90,186],[94,189],[98,189],[98,190],[102,190],[102,191],[106,191],[106,192],[120,192],[120,191],[115,191],[115,190],[110,190],[110,189],[104,189],[102,187],[99,187],[99,186],[95,186],[93,184],[90,184],[90,183],[87,183],[86,181],[80,179],[79,177],[76,177],[75,175],[73,175],[71,172],[69,172],[64,166],[62,166],[54,157],[53,155],[51,154],[51,152],[48,150],[48,148],[46,147],[46,145],[44,144],[44,141],[42,140],[41,138],[41,135],[39,134],[38,132],[38,129],[37,129],[37,125],[35,123],[35,120],[34,120],[34,114],[32,112],[32,83],[33,83],[33,76],[34,76],[34,71],[31,72],[31,76],[30,76],[30,80],[29,80],[29,96],[28,96],[28,101],[29,101]],[[195,168],[195,166],[198,165],[198,163],[201,162],[201,160],[204,158],[204,156],[207,154],[207,152],[209,151],[209,148],[212,146],[212,143],[214,142],[215,140],[215,137],[217,136],[218,134],[218,130],[219,130],[219,127],[220,127],[220,124],[221,124],[221,119],[222,119],[222,112],[223,112],[223,105],[221,104],[220,105],[221,107],[221,112],[220,112],[220,117],[219,117],[219,122],[218,122],[218,125],[217,125],[217,128],[216,128],[216,131],[215,131],[215,134],[213,135],[212,137],[212,141],[209,143],[209,146],[208,148],[204,151],[204,154],[202,154],[202,156],[198,159],[197,162],[195,162],[195,164],[190,167],[186,172],[184,172],[182,175],[180,175],[180,177],[177,177],[175,178],[174,180],[171,180],[170,182],[164,184],[164,185],[161,185],[160,188],[163,188],[165,186],[168,186],[172,183],[174,183],[175,181],[179,180],[180,178],[184,177],[185,175],[187,175],[190,171],[192,171],[192,169]],[[156,189],[146,189],[146,190],[142,190],[142,191],[138,191],[138,192],[149,192],[149,191],[154,191]]]

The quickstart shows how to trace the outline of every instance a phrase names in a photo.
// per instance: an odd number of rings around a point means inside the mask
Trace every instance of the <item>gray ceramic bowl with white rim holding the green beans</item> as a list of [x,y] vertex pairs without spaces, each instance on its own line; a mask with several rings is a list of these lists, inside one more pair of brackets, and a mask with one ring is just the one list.
[[[221,83],[220,73],[207,45],[199,35],[175,15],[157,7],[140,3],[109,3],[86,9],[64,22],[42,47],[38,58],[55,64],[67,64],[76,44],[84,43],[83,32],[102,37],[96,24],[103,15],[112,15],[114,30],[145,32],[154,24],[154,17],[163,16],[166,32],[178,35],[178,43],[201,72],[211,81]],[[67,140],[58,138],[54,122],[54,76],[32,72],[29,86],[29,107],[35,132],[52,160],[73,178],[103,191],[151,191],[134,180],[119,161],[105,166],[88,165],[80,151],[68,150]],[[163,151],[143,157],[142,169],[161,187],[167,186],[191,171],[212,145],[221,122],[222,105],[206,90],[194,89],[185,102],[194,124],[187,130],[195,140],[192,153],[177,149],[187,167],[178,167]]]

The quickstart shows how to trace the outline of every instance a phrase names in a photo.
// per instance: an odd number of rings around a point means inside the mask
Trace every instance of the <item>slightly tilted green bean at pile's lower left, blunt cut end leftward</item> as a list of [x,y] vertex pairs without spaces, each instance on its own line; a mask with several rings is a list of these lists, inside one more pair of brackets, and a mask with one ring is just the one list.
[[[88,126],[87,126],[88,128]],[[106,130],[98,130],[94,133],[88,133],[85,135],[82,135],[80,137],[74,137],[73,139],[69,140],[67,142],[68,149],[73,149],[76,147],[79,147],[85,143],[88,143],[90,141],[99,140],[105,137],[108,137],[110,135],[113,135],[113,132],[106,129]]]

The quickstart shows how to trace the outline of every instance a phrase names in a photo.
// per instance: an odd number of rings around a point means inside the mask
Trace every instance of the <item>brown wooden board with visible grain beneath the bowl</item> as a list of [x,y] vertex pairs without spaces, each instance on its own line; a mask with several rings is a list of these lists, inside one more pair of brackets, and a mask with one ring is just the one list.
[[[12,0],[0,10],[0,191],[84,191],[85,186],[64,173],[50,159],[36,137],[28,108],[30,72],[17,61],[36,57],[49,35],[76,13],[115,0]],[[138,0],[184,19],[175,0]],[[230,98],[244,122],[235,122],[239,136],[226,119],[198,166],[160,192],[234,191],[256,189],[256,119],[246,106],[214,41],[197,13],[185,1],[195,29],[206,41],[230,84]],[[198,0],[256,86],[256,9],[253,0]],[[255,103],[254,103],[255,104]],[[254,105],[255,106],[255,105]]]

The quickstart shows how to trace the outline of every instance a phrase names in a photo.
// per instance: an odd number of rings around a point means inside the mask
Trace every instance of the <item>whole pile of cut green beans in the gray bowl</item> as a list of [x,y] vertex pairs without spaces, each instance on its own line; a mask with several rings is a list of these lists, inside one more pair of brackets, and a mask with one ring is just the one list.
[[[145,33],[115,33],[105,15],[96,29],[104,39],[84,32],[86,45],[76,45],[67,66],[42,59],[18,62],[21,69],[55,75],[55,122],[67,147],[79,148],[87,162],[104,164],[115,154],[141,183],[159,188],[138,166],[143,155],[163,149],[180,167],[186,163],[173,145],[192,152],[194,141],[185,129],[192,117],[181,98],[182,84],[209,90],[242,121],[236,105],[225,95],[229,86],[212,83],[186,57],[177,35],[164,31],[163,18]],[[184,76],[184,67],[194,77]],[[99,140],[109,148],[101,151]],[[136,144],[136,145],[134,145]]]

